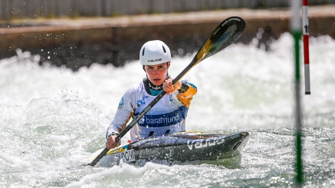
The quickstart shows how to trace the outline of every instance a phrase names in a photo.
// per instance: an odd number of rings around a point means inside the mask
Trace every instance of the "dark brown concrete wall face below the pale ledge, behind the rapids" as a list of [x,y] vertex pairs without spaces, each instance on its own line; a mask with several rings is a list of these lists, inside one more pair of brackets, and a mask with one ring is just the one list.
[[[268,35],[274,39],[289,32],[288,19],[245,20],[246,30],[237,42],[249,43],[260,28],[265,31],[270,28]],[[335,17],[310,18],[310,25],[313,25],[310,27],[310,36],[328,34],[335,37],[334,20]],[[14,28],[16,32],[4,33],[0,38],[0,59],[15,55],[16,49],[21,48],[32,54],[40,54],[40,64],[52,62],[56,66],[65,65],[73,70],[90,66],[94,62],[123,66],[129,60],[138,59],[138,50],[148,40],[164,41],[173,56],[193,53],[218,24],[218,21],[207,21],[83,29],[46,28],[29,32],[20,32],[20,28]]]

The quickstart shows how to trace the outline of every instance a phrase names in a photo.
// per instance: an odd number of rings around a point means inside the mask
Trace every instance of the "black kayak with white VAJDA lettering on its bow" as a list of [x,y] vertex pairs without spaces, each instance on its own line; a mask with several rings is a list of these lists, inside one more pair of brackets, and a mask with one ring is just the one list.
[[[179,132],[147,137],[125,146],[111,149],[99,163],[118,164],[139,160],[164,160],[170,163],[215,161],[240,155],[249,138],[248,132]],[[96,153],[100,153],[97,151]]]

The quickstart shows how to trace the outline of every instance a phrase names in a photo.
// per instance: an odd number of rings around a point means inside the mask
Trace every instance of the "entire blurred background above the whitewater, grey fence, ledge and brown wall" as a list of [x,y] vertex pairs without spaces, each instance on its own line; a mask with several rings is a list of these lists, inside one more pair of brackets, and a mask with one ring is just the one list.
[[[311,36],[335,37],[334,3],[309,1]],[[39,54],[40,65],[123,66],[138,59],[143,43],[156,39],[173,56],[186,55],[230,16],[247,21],[239,41],[258,37],[268,50],[271,39],[289,31],[289,6],[289,0],[0,0],[0,59],[20,48]]]

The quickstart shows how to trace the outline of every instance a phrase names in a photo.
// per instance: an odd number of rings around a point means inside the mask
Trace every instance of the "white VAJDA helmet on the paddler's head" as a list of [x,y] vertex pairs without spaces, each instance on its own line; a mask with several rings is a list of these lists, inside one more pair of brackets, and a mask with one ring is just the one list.
[[140,51],[142,65],[156,65],[171,61],[171,52],[167,45],[160,40],[152,40],[143,44]]

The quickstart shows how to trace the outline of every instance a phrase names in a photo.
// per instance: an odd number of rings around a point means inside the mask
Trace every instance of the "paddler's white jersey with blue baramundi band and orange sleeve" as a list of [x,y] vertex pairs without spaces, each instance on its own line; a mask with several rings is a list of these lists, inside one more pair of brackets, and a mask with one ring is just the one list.
[[[164,95],[134,125],[130,130],[131,142],[153,135],[185,131],[188,108],[197,88],[187,80],[181,82],[181,89],[169,96]],[[120,133],[126,127],[127,122],[141,113],[156,98],[154,95],[158,95],[158,93],[157,90],[156,93],[150,92],[147,78],[128,87],[107,129],[106,139],[113,133]]]

